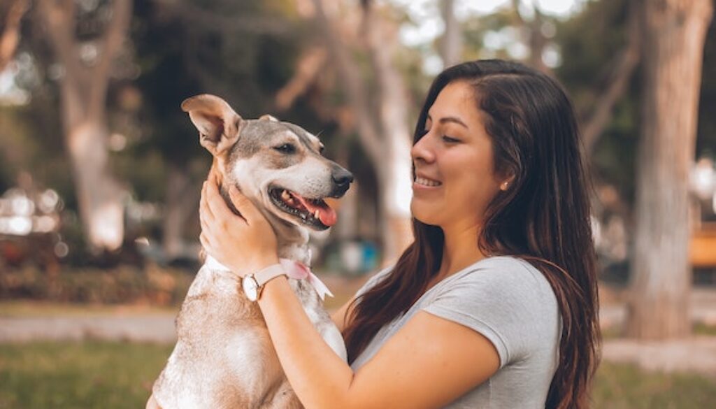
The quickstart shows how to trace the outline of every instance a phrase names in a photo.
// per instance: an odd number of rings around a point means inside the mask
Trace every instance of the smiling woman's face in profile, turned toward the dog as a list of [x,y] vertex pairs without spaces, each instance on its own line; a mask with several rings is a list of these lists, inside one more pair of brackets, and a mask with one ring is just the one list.
[[493,173],[492,142],[468,82],[451,82],[440,91],[425,131],[410,151],[412,215],[443,229],[481,225],[503,181]]

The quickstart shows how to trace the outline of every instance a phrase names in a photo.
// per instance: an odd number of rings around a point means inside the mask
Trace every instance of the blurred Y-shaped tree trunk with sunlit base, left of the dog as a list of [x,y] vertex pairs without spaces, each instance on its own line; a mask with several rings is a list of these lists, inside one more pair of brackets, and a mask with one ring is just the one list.
[[[129,26],[132,3],[114,0],[89,12],[105,29],[86,41],[77,32],[78,4],[74,0],[41,0],[37,5],[46,24],[48,42],[62,67],[60,100],[62,125],[79,216],[93,251],[115,250],[124,239],[122,189],[110,175],[107,139],[107,87],[117,53]],[[102,12],[99,12],[102,11]],[[102,21],[107,16],[107,21]],[[92,33],[82,33],[92,34]]]

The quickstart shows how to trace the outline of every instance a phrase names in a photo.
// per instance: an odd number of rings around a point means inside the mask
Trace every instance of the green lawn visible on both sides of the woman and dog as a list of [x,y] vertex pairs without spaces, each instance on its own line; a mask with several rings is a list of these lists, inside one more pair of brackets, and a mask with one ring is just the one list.
[[[143,408],[170,345],[32,342],[0,345],[0,409]],[[605,362],[596,409],[716,407],[716,380]]]

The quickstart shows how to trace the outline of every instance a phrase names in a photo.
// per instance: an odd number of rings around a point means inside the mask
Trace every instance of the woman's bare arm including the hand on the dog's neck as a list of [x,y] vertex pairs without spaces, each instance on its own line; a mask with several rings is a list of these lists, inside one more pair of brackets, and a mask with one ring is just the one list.
[[[232,191],[243,217],[233,215],[212,185],[205,186],[201,205],[208,254],[241,275],[276,263],[275,237],[261,213]],[[284,276],[266,284],[258,305],[306,408],[440,407],[487,380],[500,363],[495,347],[478,332],[419,312],[354,372],[314,329]],[[337,314],[342,321],[343,312]]]

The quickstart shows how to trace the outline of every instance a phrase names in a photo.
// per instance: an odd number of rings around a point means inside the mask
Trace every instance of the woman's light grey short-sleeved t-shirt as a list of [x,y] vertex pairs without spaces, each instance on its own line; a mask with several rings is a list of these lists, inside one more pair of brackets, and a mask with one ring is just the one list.
[[[367,291],[390,274],[373,276]],[[483,259],[443,279],[410,309],[377,332],[351,365],[357,370],[419,311],[463,324],[495,345],[500,369],[446,408],[544,408],[558,362],[561,318],[547,279],[527,261]]]

